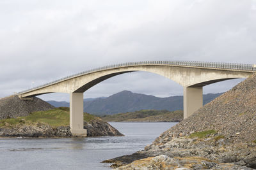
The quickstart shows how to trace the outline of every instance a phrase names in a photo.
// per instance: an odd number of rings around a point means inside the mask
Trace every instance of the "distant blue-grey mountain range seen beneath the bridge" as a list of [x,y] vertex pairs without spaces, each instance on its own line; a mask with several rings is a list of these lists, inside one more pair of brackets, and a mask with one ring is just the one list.
[[[204,104],[221,94],[204,94]],[[47,102],[55,107],[69,107],[69,103],[65,101]],[[183,96],[156,97],[124,90],[109,97],[84,99],[84,112],[93,115],[113,115],[138,110],[183,110]]]

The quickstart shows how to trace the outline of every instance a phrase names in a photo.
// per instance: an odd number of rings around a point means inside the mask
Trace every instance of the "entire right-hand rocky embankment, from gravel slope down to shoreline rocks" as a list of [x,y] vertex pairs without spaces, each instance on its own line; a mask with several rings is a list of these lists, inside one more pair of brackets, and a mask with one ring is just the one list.
[[118,169],[256,169],[256,74],[113,162]]

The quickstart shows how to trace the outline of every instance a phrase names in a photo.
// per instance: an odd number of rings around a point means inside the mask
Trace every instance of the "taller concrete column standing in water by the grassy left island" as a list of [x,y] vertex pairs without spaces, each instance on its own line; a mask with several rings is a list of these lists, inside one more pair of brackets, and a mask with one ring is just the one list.
[[86,136],[84,129],[83,93],[70,93],[70,131],[73,136]]

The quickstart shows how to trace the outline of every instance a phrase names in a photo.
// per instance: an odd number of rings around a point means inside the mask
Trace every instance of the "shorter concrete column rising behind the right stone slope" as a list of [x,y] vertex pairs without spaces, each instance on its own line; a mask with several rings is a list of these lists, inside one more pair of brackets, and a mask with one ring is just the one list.
[[184,118],[203,106],[203,87],[183,87]]

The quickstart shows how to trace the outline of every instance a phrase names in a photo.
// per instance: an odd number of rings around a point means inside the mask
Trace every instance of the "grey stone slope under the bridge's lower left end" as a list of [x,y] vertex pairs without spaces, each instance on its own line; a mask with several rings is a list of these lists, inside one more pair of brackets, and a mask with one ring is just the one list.
[[51,110],[54,106],[34,97],[31,101],[22,101],[17,95],[0,99],[0,119],[24,117],[34,111]]

